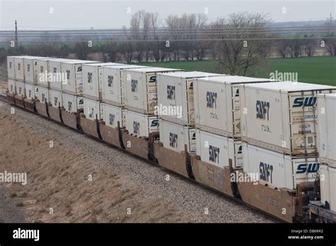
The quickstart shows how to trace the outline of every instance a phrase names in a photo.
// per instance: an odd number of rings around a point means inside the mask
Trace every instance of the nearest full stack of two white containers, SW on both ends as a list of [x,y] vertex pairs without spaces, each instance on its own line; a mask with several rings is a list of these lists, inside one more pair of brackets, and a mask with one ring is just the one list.
[[317,94],[335,93],[336,88],[279,82],[239,89],[244,171],[288,189],[315,181],[320,167]]

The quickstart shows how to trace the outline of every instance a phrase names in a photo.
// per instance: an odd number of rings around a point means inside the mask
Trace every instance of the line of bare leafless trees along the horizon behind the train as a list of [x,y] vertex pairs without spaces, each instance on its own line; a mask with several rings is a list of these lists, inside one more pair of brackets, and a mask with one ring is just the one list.
[[[0,49],[0,62],[7,55],[28,54],[47,57],[90,59],[99,54],[101,61],[202,61],[219,60],[216,72],[250,75],[267,57],[312,57],[319,47],[336,55],[335,33],[326,31],[322,40],[312,33],[281,35],[269,30],[271,20],[262,13],[232,13],[209,22],[206,14],[169,15],[163,23],[157,13],[138,11],[123,27],[123,40],[20,45]],[[326,22],[325,26],[332,25]],[[97,59],[97,57],[95,57]]]

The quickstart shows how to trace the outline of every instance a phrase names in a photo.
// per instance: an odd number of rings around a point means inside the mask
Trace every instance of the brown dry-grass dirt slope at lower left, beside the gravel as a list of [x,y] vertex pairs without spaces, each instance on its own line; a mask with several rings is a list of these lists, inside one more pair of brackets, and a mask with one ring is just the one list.
[[85,153],[57,141],[51,148],[56,136],[39,136],[4,112],[0,126],[0,172],[28,176],[27,185],[4,182],[0,189],[23,209],[27,222],[180,221],[179,211],[162,199],[122,185],[111,166],[97,168]]

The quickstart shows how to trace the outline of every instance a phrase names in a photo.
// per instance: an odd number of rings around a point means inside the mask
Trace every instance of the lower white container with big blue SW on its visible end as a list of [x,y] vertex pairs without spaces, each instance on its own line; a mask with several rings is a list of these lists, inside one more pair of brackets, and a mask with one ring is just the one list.
[[296,189],[299,183],[314,182],[320,169],[318,156],[297,158],[244,142],[242,156],[244,172],[277,188]]

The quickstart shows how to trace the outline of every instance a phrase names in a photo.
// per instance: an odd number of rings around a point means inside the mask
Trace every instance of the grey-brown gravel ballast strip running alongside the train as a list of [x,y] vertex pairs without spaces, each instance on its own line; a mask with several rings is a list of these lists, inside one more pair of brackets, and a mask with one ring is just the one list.
[[[0,101],[1,112],[9,114],[11,107],[13,105]],[[16,122],[20,122],[23,127],[34,131],[36,134],[45,136],[47,139],[51,138],[55,143],[59,142],[67,148],[74,148],[76,151],[85,153],[94,160],[95,169],[111,167],[113,173],[120,177],[118,182],[121,182],[128,189],[141,192],[141,195],[135,199],[162,199],[169,204],[169,207],[174,208],[172,213],[179,213],[177,222],[276,222],[264,213],[251,209],[244,204],[238,204],[232,199],[212,192],[210,189],[189,182],[167,170],[151,165],[145,160],[131,156],[48,119],[17,107],[15,107],[15,114],[11,116]],[[151,211],[150,207],[147,209],[148,213],[155,213],[155,211]]]

